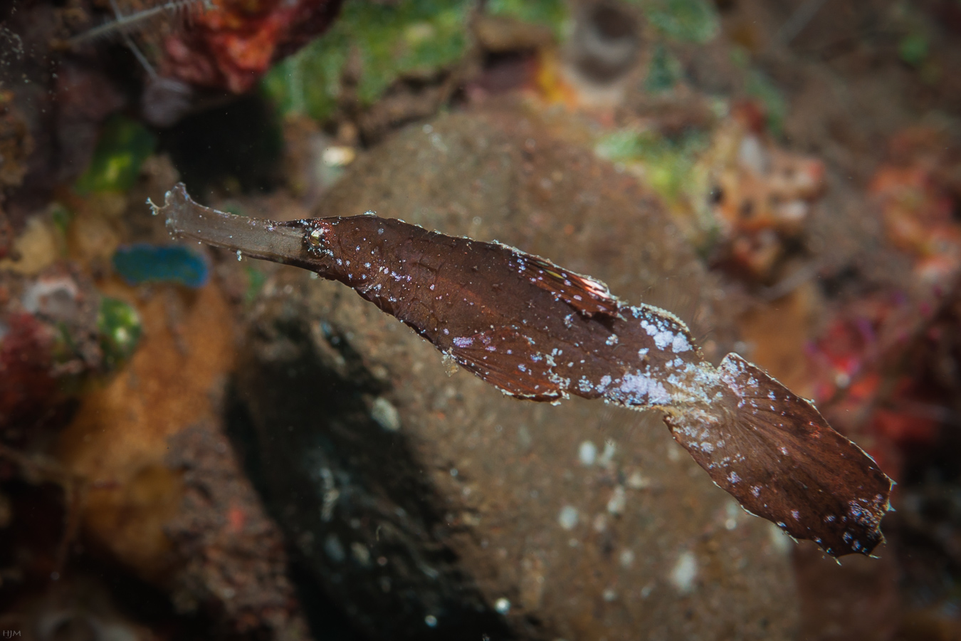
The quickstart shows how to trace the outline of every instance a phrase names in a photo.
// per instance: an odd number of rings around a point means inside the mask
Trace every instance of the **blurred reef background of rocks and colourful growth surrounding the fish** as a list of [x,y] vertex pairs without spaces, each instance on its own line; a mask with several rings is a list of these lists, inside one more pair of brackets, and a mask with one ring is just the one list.
[[[961,639],[957,0],[0,4],[0,633]],[[673,312],[897,481],[873,557],[148,198]]]

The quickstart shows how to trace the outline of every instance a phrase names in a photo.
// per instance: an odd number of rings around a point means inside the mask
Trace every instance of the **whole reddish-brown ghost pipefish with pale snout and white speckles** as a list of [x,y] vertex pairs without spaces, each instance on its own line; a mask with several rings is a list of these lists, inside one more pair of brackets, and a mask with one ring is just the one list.
[[870,555],[892,481],[809,401],[736,354],[704,360],[674,314],[497,242],[373,214],[257,220],[193,202],[155,213],[171,234],[352,287],[505,394],[571,394],[663,412],[710,478],[748,511],[828,555]]

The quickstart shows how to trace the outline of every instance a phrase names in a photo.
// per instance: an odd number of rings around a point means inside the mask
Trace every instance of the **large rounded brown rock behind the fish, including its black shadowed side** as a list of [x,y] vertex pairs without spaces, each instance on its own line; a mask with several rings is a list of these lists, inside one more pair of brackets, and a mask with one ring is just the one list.
[[[497,238],[630,303],[656,286],[726,336],[656,202],[554,130],[520,111],[441,117],[358,161],[318,213]],[[234,423],[256,434],[268,503],[304,562],[379,638],[792,636],[790,542],[659,418],[451,376],[393,318],[293,269],[253,314]]]

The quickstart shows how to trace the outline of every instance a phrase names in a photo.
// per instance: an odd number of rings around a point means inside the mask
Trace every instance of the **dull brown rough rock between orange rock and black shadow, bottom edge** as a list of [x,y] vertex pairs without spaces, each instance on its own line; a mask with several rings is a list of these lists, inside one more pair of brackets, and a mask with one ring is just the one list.
[[174,579],[174,604],[186,611],[208,605],[228,634],[307,639],[286,578],[283,536],[264,514],[227,437],[206,424],[167,442],[167,462],[183,471],[184,482],[181,510],[164,528],[185,559]]

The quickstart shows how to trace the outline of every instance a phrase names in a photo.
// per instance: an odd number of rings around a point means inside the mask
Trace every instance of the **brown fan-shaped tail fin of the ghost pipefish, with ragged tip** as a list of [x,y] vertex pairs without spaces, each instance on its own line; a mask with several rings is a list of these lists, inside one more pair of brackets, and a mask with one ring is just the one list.
[[828,555],[870,555],[884,540],[892,481],[818,410],[736,354],[723,398],[672,412],[675,439],[747,510]]

